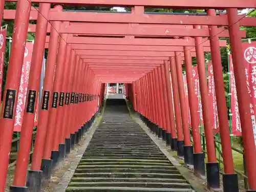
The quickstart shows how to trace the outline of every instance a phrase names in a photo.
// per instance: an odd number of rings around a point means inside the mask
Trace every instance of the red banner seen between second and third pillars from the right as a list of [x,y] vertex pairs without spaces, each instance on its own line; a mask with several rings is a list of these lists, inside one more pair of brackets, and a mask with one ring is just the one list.
[[208,79],[208,102],[210,104],[210,114],[212,118],[212,127],[215,133],[219,133],[219,120],[217,112],[217,101],[215,94],[215,85],[214,85],[214,71],[212,69],[212,62],[207,63],[207,79]]

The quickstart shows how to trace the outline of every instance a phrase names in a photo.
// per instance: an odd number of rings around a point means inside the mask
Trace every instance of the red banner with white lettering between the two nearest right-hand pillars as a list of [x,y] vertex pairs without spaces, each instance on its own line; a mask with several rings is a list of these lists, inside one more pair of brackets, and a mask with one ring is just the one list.
[[236,81],[234,80],[234,70],[232,55],[229,55],[229,86],[230,86],[230,110],[231,110],[231,134],[242,136],[240,115],[238,109],[238,96]]

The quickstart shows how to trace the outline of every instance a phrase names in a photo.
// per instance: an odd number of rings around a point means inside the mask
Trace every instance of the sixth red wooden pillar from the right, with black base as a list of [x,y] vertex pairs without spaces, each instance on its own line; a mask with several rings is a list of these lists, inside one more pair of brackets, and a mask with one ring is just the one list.
[[176,120],[176,130],[178,135],[177,152],[178,152],[178,156],[184,156],[184,149],[183,149],[184,140],[183,140],[182,127],[181,127],[179,89],[178,89],[178,80],[177,80],[177,74],[176,74],[175,57],[170,57],[170,73],[172,74],[174,111],[175,111],[175,120]]

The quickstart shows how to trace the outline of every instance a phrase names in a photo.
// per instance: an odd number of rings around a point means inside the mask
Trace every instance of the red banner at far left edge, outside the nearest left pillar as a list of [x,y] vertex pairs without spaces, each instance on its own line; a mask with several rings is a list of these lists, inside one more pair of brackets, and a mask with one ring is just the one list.
[[6,29],[0,32],[0,98],[3,87],[3,72],[5,64]]

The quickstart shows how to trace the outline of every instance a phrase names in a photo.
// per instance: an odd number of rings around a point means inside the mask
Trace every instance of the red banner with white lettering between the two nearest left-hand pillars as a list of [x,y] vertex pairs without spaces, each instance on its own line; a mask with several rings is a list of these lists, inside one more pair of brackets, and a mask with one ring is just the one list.
[[[14,130],[13,130],[15,132],[20,132],[22,130],[22,122],[23,122],[23,115],[25,111],[32,52],[33,52],[33,42],[26,42],[26,47],[24,52],[24,61],[23,61],[23,67],[22,67],[22,76],[20,77],[18,101],[17,101]],[[37,122],[37,111],[38,111],[37,109],[38,107],[36,104],[36,114],[35,114],[36,122]]]

